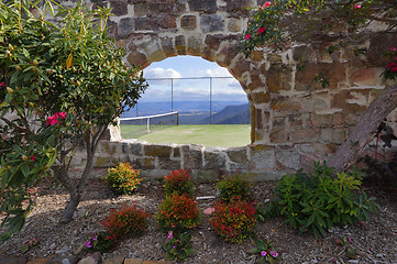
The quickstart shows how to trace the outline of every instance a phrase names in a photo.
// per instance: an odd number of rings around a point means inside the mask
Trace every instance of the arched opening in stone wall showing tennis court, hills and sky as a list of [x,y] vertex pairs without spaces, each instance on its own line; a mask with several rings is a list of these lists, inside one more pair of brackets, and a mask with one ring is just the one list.
[[250,144],[250,103],[227,68],[177,56],[153,63],[143,74],[150,87],[122,114],[123,139],[222,147]]

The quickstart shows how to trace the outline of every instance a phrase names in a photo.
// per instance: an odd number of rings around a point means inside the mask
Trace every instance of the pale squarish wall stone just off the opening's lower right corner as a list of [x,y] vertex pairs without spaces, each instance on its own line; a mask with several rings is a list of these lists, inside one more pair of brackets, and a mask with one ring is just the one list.
[[257,145],[250,150],[251,161],[255,169],[273,169],[276,164],[274,148],[264,145]]

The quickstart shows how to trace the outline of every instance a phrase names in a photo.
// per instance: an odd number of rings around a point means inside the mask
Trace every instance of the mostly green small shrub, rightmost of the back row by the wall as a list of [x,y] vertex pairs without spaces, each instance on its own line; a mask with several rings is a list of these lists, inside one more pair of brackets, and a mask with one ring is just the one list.
[[220,190],[220,199],[230,201],[233,197],[240,197],[241,199],[250,199],[251,183],[244,180],[240,176],[223,177],[221,182],[217,184],[217,188]]

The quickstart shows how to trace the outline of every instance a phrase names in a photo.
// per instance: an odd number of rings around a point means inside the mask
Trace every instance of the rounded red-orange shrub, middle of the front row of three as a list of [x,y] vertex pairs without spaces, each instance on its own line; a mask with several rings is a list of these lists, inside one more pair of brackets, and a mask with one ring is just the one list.
[[201,222],[201,212],[197,207],[197,201],[186,194],[166,196],[158,209],[156,219],[159,227],[165,230],[192,229]]

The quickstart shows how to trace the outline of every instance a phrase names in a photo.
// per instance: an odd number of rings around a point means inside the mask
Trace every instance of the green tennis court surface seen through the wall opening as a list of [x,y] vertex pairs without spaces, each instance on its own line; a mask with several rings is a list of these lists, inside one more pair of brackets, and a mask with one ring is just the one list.
[[206,146],[245,146],[251,143],[250,124],[199,124],[151,127],[120,125],[123,139],[137,139],[150,143],[202,144]]

